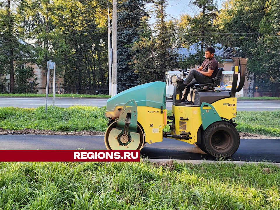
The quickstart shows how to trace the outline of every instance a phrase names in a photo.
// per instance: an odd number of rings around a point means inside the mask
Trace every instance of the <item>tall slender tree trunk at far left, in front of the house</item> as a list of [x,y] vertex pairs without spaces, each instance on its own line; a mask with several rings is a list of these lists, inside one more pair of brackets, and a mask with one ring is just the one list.
[[[7,11],[8,11],[8,17],[10,19],[9,21],[9,33],[12,36],[12,25],[13,25],[13,20],[11,17],[11,10],[10,10],[10,0],[8,0],[7,4]],[[11,43],[12,41],[8,39],[8,43]],[[12,45],[9,44],[9,47],[12,49]],[[10,92],[14,92],[14,59],[13,59],[13,50],[9,50],[10,53]]]

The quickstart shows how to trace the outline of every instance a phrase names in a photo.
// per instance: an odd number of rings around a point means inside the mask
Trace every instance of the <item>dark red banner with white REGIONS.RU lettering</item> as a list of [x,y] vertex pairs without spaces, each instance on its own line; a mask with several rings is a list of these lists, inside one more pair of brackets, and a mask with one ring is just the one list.
[[139,162],[140,150],[0,150],[0,161]]

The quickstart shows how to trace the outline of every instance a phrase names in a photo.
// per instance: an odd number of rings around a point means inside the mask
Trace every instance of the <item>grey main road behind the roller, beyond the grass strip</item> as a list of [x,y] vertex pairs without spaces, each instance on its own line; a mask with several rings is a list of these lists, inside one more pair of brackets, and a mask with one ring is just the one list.
[[[59,98],[55,99],[55,105],[69,107],[74,105],[106,106],[106,98]],[[53,99],[48,99],[48,105],[53,104]],[[45,105],[45,98],[32,97],[0,97],[0,106],[13,106],[20,108],[36,108]],[[172,101],[167,100],[167,109],[172,109]],[[237,111],[273,111],[280,110],[280,100],[240,100],[237,101]]]

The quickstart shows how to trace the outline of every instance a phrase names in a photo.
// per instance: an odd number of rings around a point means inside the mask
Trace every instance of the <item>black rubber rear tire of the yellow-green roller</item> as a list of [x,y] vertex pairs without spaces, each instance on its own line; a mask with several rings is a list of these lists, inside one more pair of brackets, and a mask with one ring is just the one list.
[[213,157],[231,157],[238,149],[240,137],[237,129],[227,121],[218,121],[202,132],[199,148]]

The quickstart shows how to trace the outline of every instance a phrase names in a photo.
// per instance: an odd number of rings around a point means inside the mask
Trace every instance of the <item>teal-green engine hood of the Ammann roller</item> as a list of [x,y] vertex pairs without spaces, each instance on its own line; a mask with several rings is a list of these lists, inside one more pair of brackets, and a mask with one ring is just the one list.
[[129,88],[108,99],[106,112],[112,112],[116,106],[124,106],[129,100],[134,99],[137,106],[149,106],[163,109],[165,106],[165,83],[152,82]]

